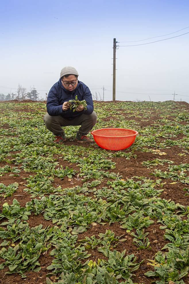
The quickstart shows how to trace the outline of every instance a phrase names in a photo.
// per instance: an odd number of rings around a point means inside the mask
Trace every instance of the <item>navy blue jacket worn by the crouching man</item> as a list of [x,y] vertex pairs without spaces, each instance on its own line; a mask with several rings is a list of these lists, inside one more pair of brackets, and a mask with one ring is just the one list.
[[[75,100],[76,95],[78,96],[78,100],[86,100],[87,109],[75,112],[70,109],[63,110],[63,103],[68,102],[69,100]],[[78,85],[73,91],[68,91],[63,87],[61,79],[59,79],[59,81],[55,83],[49,91],[47,97],[47,113],[51,116],[61,115],[66,119],[72,120],[83,113],[90,115],[93,112],[93,109],[91,92],[89,88],[81,81],[78,81]]]

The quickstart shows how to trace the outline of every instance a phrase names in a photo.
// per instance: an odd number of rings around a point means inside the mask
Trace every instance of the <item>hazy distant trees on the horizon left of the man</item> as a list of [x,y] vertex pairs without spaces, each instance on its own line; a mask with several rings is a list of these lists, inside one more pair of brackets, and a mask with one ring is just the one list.
[[43,101],[44,99],[39,98],[39,93],[37,92],[36,89],[31,89],[30,92],[26,92],[26,88],[18,84],[16,93],[8,93],[7,95],[4,95],[3,93],[0,94],[0,101],[9,101],[9,100]]

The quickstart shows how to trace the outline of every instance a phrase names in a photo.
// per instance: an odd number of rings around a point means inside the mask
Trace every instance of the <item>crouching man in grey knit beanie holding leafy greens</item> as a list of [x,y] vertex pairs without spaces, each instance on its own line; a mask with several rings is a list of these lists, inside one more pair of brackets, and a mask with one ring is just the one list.
[[[78,97],[79,101],[86,100],[87,109],[79,105],[76,111],[70,110],[71,103]],[[67,140],[61,127],[68,125],[81,125],[75,140],[92,142],[87,134],[97,121],[97,114],[93,110],[92,95],[89,88],[78,81],[78,71],[72,66],[65,66],[60,72],[60,79],[50,89],[47,97],[47,114],[44,122],[55,136],[55,143],[63,143]]]

